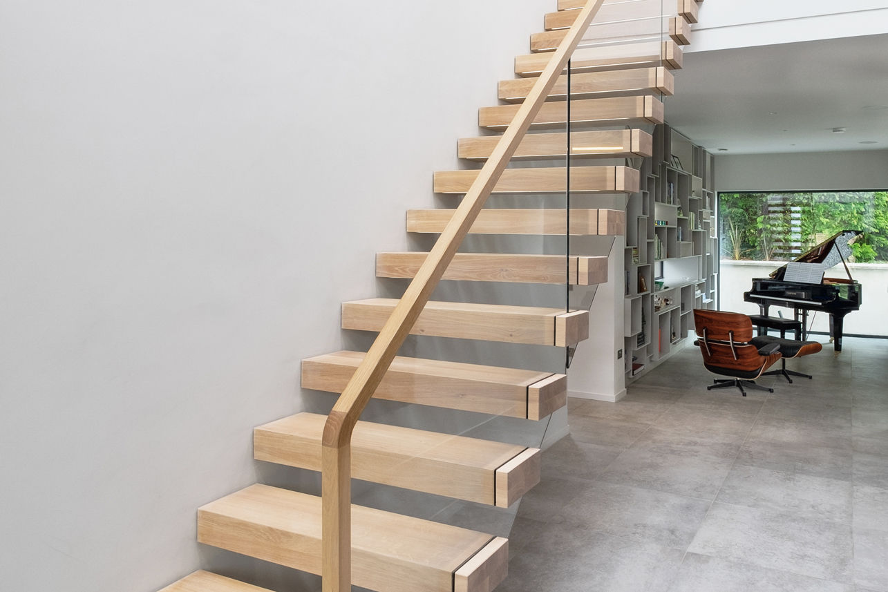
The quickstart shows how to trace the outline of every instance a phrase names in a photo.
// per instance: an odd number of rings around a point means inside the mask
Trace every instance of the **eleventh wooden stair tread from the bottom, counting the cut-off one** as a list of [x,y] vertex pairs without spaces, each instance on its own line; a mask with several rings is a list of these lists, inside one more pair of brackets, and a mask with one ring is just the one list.
[[[671,95],[675,78],[665,67],[638,67],[628,70],[582,72],[571,75],[570,91],[573,99],[593,99],[596,96],[631,95],[659,92]],[[533,78],[514,78],[499,83],[499,98],[509,103],[520,103],[534,88]],[[559,76],[549,92],[549,99],[567,98],[567,75]]]

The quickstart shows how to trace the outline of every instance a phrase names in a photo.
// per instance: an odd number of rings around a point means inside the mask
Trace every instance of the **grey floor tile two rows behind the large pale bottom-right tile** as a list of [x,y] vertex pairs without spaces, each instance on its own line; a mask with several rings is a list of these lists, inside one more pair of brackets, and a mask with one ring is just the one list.
[[852,451],[847,448],[755,439],[741,447],[737,464],[850,481],[852,458]]

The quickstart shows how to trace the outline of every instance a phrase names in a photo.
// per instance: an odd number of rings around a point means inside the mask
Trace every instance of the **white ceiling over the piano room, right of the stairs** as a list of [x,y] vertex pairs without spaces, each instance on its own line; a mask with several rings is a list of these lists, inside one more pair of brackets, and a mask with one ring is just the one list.
[[675,74],[666,121],[712,154],[888,149],[888,35],[688,52]]

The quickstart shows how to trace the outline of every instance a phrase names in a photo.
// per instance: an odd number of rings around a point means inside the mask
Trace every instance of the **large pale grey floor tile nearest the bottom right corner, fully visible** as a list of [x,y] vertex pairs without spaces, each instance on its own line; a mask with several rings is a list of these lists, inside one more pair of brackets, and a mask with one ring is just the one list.
[[799,575],[851,581],[851,525],[794,512],[712,505],[689,551]]

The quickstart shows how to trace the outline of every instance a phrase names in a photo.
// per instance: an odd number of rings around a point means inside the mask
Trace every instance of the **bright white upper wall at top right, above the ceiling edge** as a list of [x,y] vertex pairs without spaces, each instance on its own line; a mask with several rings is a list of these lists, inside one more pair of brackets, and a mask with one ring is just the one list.
[[888,28],[885,0],[778,0],[750,10],[745,2],[708,2],[686,51],[878,35]]

